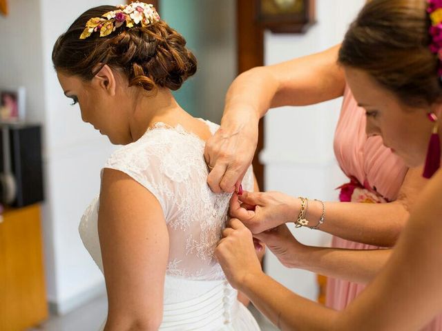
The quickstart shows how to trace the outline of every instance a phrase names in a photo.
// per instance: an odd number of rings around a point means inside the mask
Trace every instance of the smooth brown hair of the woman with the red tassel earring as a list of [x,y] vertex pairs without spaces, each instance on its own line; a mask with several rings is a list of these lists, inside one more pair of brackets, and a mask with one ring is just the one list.
[[430,35],[428,6],[427,0],[370,1],[345,34],[338,62],[367,72],[407,106],[442,101],[434,44],[441,36]]

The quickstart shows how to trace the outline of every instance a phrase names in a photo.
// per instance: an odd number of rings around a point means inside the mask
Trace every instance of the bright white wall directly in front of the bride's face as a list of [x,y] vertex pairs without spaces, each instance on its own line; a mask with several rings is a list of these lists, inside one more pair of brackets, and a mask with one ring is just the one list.
[[77,228],[84,209],[99,192],[99,170],[114,147],[81,121],[78,106],[69,105],[70,99],[64,96],[52,68],[52,46],[84,10],[119,2],[41,0],[49,174],[45,219],[50,220],[55,252],[55,268],[48,271],[55,274],[56,280],[48,288],[48,296],[60,313],[75,308],[104,288],[102,274],[81,243]]

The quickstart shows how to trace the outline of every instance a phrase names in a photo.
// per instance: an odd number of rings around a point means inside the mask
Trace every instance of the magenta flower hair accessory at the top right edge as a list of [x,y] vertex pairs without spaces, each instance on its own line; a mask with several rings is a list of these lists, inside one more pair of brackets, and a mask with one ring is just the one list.
[[430,50],[439,59],[439,79],[442,83],[442,0],[427,0],[427,12],[430,15]]

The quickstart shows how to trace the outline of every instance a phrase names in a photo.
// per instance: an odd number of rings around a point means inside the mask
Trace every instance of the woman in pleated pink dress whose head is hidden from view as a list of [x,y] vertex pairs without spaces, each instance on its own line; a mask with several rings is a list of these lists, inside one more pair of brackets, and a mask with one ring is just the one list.
[[[341,310],[390,257],[390,250],[385,248],[394,245],[412,202],[426,181],[421,177],[421,169],[408,169],[390,148],[383,146],[381,137],[367,137],[365,111],[358,107],[347,87],[342,69],[336,63],[337,51],[338,46],[241,74],[229,89],[221,130],[206,144],[205,155],[213,167],[209,175],[212,190],[230,192],[240,182],[243,169],[251,163],[258,139],[258,119],[269,108],[304,106],[344,96],[334,150],[349,183],[340,188],[340,202],[323,205],[322,201],[308,199],[304,214],[308,226],[320,225],[318,230],[334,234],[333,248],[310,248],[296,242],[297,254],[293,254],[293,249],[287,254],[289,250],[281,245],[280,237],[273,247],[269,238],[265,238],[287,267],[329,277],[327,306]],[[294,217],[284,223],[296,223],[302,210],[302,199],[281,193],[258,196],[245,192],[244,196],[242,202],[250,205],[262,205],[267,199],[265,214],[253,220],[231,212],[232,217],[241,219],[262,239],[263,234],[258,233],[281,223],[281,205],[289,205],[289,214]],[[323,211],[325,218],[319,223]],[[278,232],[291,238],[287,228],[280,227]],[[442,330],[442,318],[433,321],[426,330]]]

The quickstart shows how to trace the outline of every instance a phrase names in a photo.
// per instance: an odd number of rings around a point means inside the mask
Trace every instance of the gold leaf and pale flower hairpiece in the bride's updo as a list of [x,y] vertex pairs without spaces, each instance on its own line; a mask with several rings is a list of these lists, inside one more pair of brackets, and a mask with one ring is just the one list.
[[117,10],[106,12],[102,17],[93,17],[86,23],[86,28],[79,39],[90,37],[93,32],[99,31],[99,37],[106,37],[126,23],[126,28],[141,23],[146,28],[151,23],[160,21],[160,15],[150,3],[133,2],[130,5],[119,5]]

